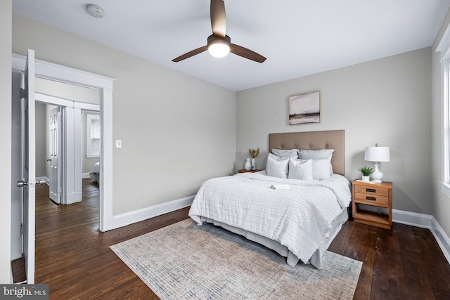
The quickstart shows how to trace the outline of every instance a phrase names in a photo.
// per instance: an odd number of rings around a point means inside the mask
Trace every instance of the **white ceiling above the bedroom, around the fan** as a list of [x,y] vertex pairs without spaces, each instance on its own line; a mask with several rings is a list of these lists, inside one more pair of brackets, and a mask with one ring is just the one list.
[[448,0],[225,0],[226,34],[265,56],[260,64],[204,52],[212,33],[210,0],[13,0],[13,11],[226,89],[332,70],[431,46]]

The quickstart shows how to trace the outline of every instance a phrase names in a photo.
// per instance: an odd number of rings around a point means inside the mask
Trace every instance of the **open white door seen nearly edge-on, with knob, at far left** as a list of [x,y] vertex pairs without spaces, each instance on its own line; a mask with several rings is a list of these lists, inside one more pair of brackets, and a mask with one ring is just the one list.
[[34,135],[34,51],[28,50],[25,65],[25,80],[22,94],[22,132],[23,132],[23,253],[27,283],[34,283],[34,229],[35,229],[35,135]]

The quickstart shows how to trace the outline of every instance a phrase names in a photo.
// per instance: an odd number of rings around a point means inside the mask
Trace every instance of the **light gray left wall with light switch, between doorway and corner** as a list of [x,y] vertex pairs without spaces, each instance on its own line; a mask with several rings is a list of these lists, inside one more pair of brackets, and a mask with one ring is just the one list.
[[117,79],[113,214],[195,195],[232,174],[236,93],[13,13],[13,53]]

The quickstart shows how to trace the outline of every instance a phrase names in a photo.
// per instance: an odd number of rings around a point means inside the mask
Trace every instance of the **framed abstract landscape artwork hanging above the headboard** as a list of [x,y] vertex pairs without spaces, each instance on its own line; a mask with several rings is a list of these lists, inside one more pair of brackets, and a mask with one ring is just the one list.
[[320,91],[289,97],[289,125],[320,123]]

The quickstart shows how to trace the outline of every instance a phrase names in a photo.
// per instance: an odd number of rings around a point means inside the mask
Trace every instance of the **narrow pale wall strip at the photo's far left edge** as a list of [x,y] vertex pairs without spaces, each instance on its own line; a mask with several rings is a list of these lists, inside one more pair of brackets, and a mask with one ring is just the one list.
[[0,282],[11,282],[11,11],[0,1]]

